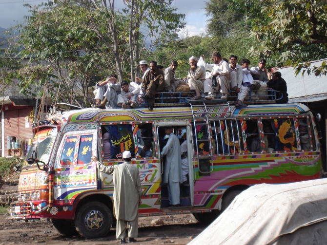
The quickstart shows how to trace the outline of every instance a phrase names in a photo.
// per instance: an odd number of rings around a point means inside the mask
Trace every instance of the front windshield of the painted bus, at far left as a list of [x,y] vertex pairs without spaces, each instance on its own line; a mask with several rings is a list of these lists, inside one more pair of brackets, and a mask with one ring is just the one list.
[[[37,147],[38,156],[37,159],[48,164],[51,150],[53,149],[53,143],[55,142],[55,138],[57,136],[57,129],[50,128],[44,129],[37,132],[34,136],[33,143],[31,145],[30,150],[27,153],[26,159],[32,157],[33,147]],[[25,162],[27,165],[27,162]]]

